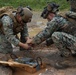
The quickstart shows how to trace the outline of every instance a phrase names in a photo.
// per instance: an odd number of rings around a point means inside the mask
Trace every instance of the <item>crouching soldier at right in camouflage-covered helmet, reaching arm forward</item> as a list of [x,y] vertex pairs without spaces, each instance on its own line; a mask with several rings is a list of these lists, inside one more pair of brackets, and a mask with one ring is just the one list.
[[[48,20],[47,27],[39,32],[28,43],[39,45],[48,38],[52,38],[62,57],[70,57],[76,54],[76,0],[69,0],[71,10],[65,16],[57,14],[58,5],[49,3],[41,16]],[[74,9],[72,10],[74,6]],[[61,62],[62,63],[62,62]],[[64,68],[61,63],[56,63],[57,68]]]

